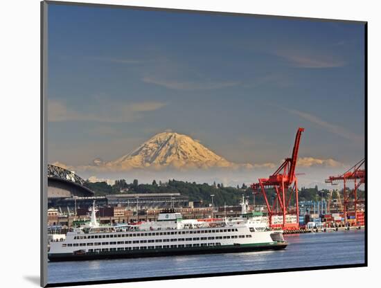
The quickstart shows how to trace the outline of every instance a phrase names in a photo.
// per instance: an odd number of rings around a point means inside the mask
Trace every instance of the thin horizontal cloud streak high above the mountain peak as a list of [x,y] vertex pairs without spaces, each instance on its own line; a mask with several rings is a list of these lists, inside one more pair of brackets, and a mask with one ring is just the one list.
[[152,77],[143,77],[143,82],[155,84],[168,89],[175,90],[213,90],[232,87],[239,84],[235,81],[213,82],[213,81],[181,81],[181,80],[161,80]]

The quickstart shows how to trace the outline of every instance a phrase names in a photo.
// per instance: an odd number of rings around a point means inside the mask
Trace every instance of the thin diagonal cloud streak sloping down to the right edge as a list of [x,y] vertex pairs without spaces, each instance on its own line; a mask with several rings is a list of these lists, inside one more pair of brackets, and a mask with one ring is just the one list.
[[345,127],[335,125],[332,123],[328,123],[325,120],[323,120],[317,116],[314,116],[312,114],[302,112],[302,111],[298,111],[295,109],[288,109],[285,107],[281,107],[281,109],[288,111],[289,113],[294,114],[296,116],[299,116],[300,118],[308,120],[310,123],[314,123],[316,125],[319,125],[320,127],[323,127],[324,129],[326,129],[328,132],[331,132],[333,134],[337,134],[337,135],[342,136],[348,140],[357,141],[357,142],[364,141],[364,136],[359,135],[359,134],[355,134],[355,133],[349,131],[348,129],[346,129]]

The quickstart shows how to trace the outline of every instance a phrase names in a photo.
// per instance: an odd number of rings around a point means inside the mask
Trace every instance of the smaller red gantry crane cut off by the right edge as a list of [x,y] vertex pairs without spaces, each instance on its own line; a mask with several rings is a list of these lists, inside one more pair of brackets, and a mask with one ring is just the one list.
[[[350,208],[353,208],[355,212],[356,222],[357,219],[357,205],[359,203],[364,203],[364,199],[359,199],[357,197],[357,190],[360,188],[362,184],[365,183],[365,159],[362,159],[361,161],[357,162],[352,168],[344,172],[343,174],[339,176],[331,176],[328,179],[326,179],[326,183],[330,183],[332,185],[337,185],[339,181],[343,181],[344,188],[343,188],[343,194],[344,194],[344,221],[347,221],[347,213]],[[353,190],[347,191],[347,182],[353,181],[354,188]]]

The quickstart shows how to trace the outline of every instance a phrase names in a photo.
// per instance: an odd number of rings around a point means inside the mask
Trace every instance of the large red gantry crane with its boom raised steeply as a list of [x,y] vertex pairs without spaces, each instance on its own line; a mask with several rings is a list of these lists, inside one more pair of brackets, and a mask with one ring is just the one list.
[[[304,132],[304,128],[299,127],[296,132],[292,157],[286,158],[283,164],[269,178],[260,178],[258,183],[251,185],[254,192],[262,192],[269,213],[269,226],[273,228],[276,227],[272,223],[273,215],[283,215],[283,224],[281,225],[283,229],[294,230],[299,228],[298,179],[295,176],[295,168],[302,132]],[[272,206],[270,206],[266,195],[266,190],[269,189],[274,189],[276,193]],[[292,195],[294,195],[296,205],[296,223],[287,223],[287,213],[290,210]],[[278,204],[281,208],[281,213],[278,213]]]

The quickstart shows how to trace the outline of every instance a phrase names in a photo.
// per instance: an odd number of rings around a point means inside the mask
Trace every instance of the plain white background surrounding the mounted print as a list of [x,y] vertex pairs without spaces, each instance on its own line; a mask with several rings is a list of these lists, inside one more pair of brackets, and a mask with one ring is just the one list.
[[[96,0],[94,0],[96,1]],[[84,1],[91,2],[91,1]],[[369,267],[136,282],[98,287],[375,287],[380,276],[380,35],[378,1],[96,1],[131,6],[369,21]],[[2,287],[39,282],[39,1],[0,6]],[[330,105],[330,103],[327,103]],[[345,103],[343,103],[345,105]],[[337,147],[340,149],[340,147]],[[380,207],[379,207],[380,206]],[[326,253],[321,247],[321,253]],[[377,273],[378,272],[378,273]],[[378,277],[377,277],[378,276]],[[70,276],[68,275],[68,280]],[[378,286],[379,287],[379,286]]]

